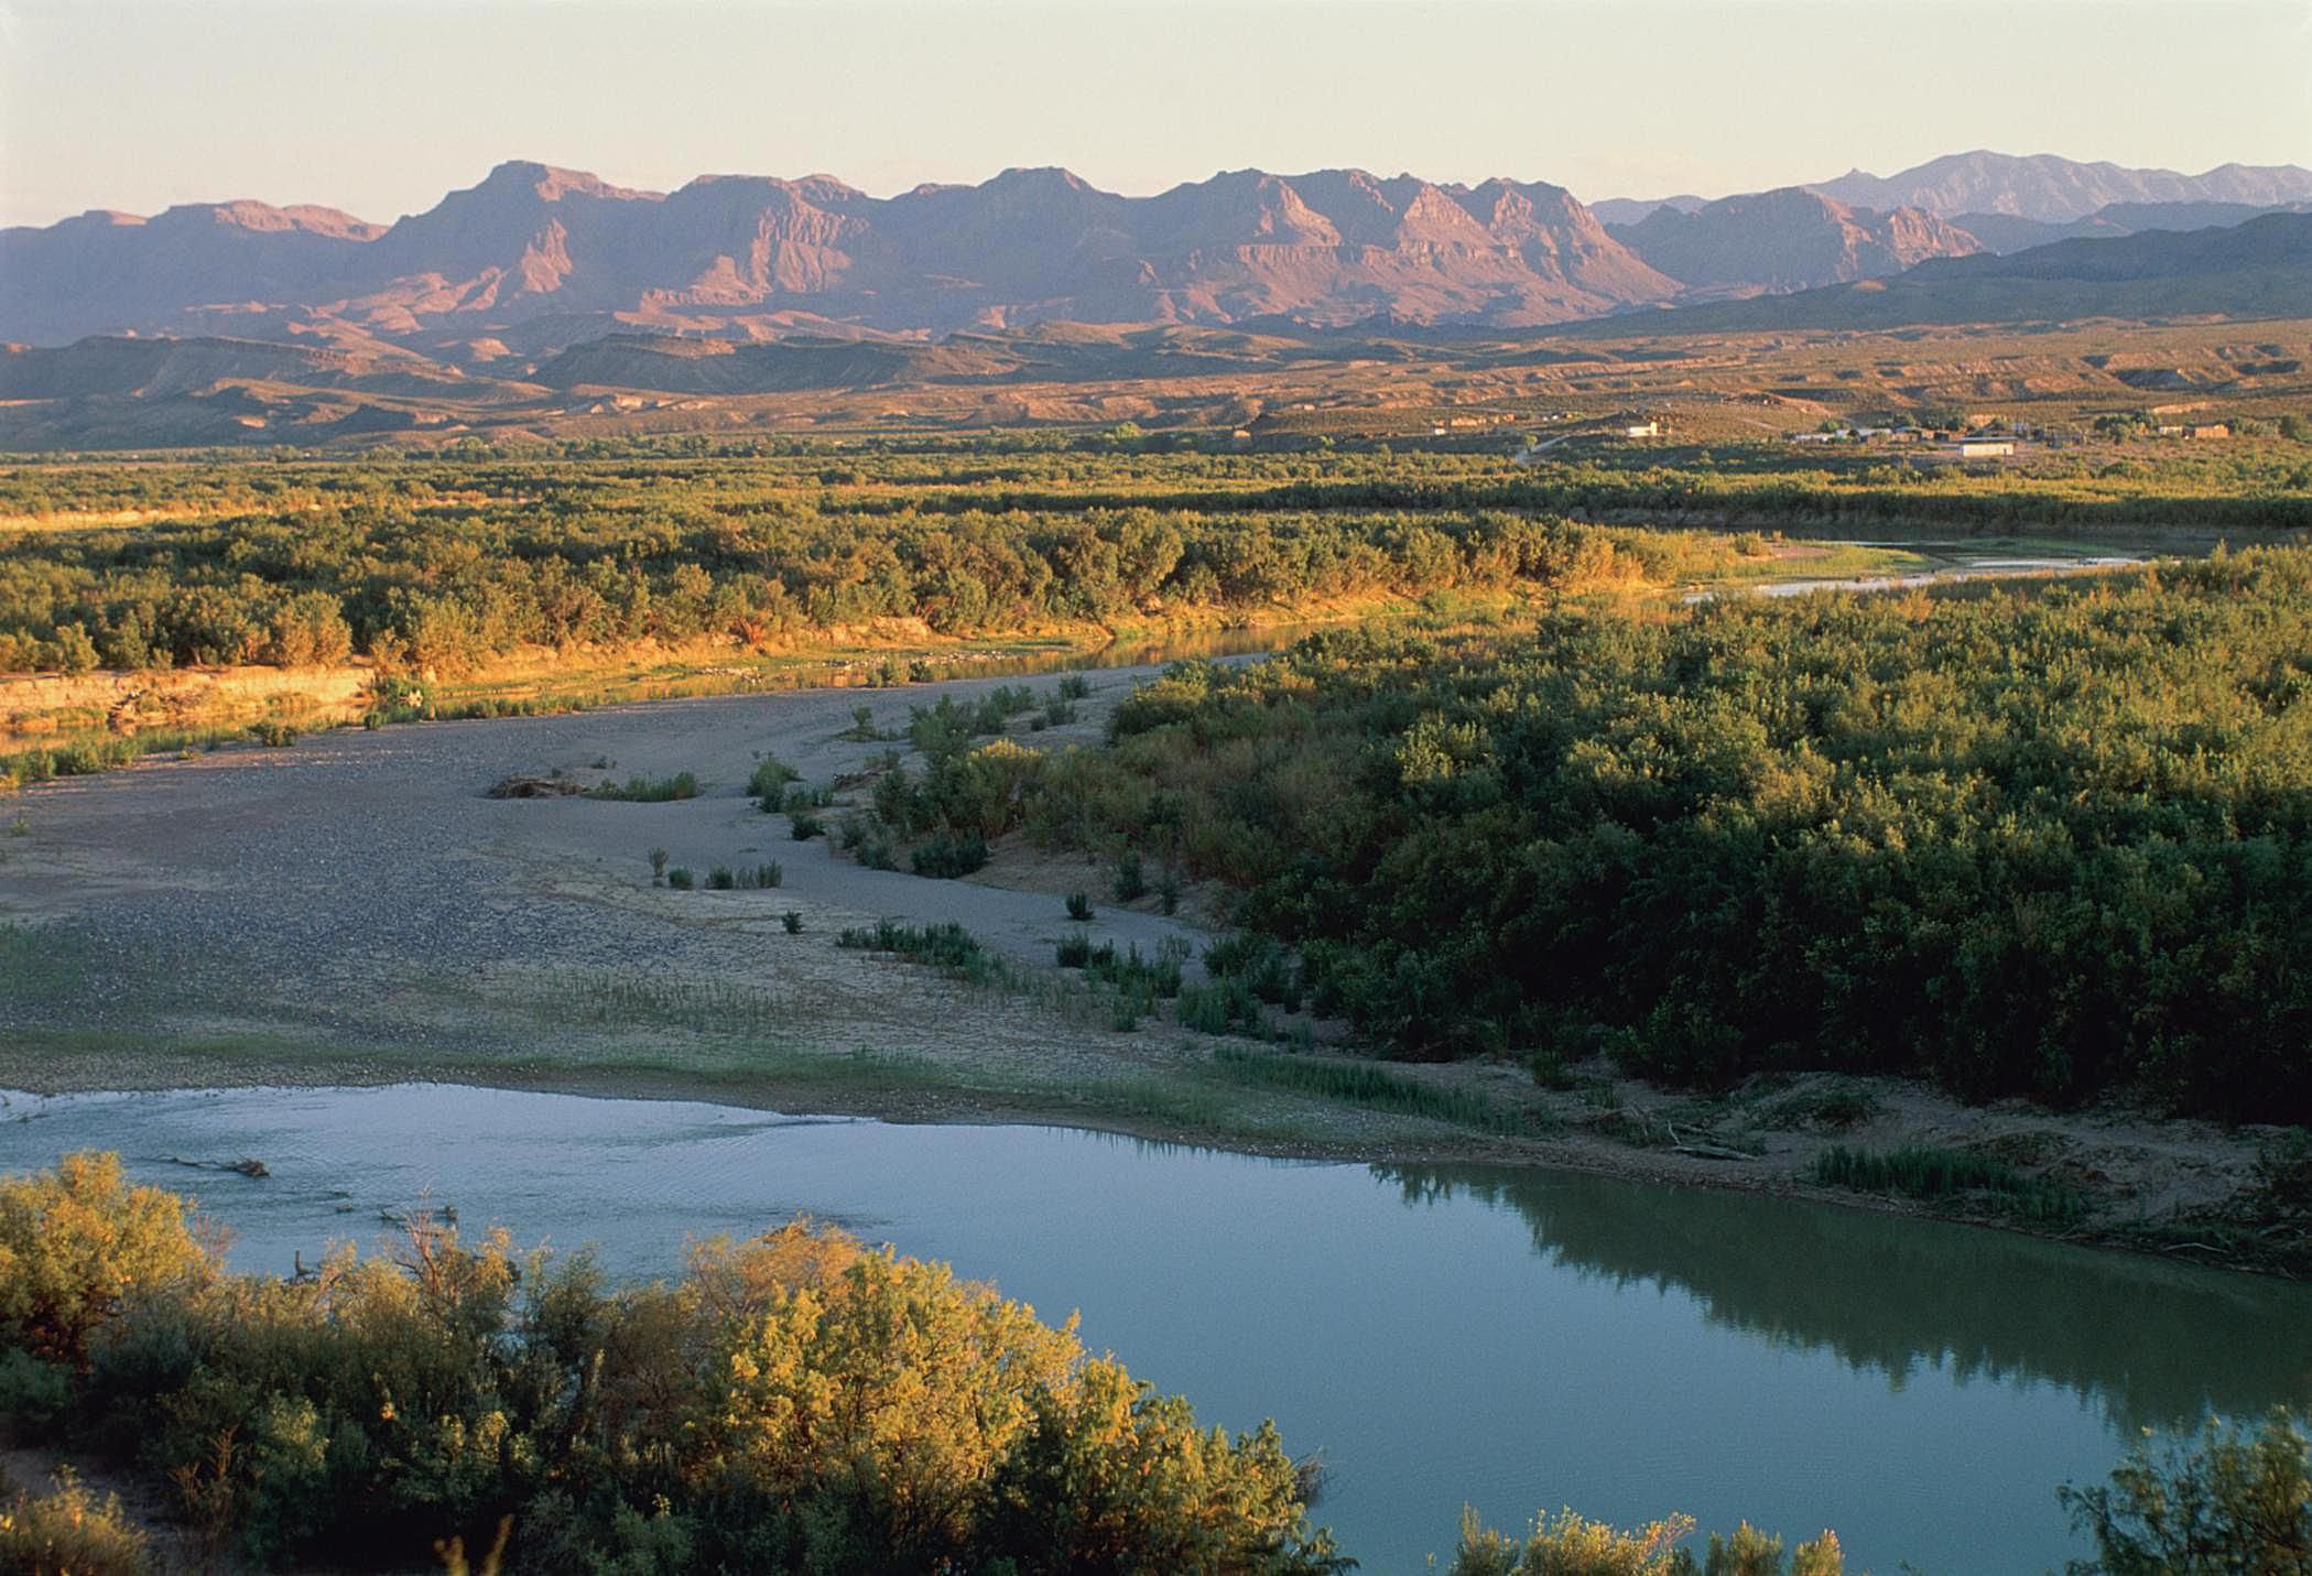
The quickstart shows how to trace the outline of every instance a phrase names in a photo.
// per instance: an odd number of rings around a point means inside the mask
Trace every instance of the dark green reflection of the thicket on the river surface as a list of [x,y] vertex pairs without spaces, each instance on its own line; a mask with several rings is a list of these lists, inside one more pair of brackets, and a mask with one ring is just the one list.
[[1549,1262],[1683,1289],[1713,1324],[1831,1352],[1903,1389],[2051,1382],[2125,1433],[2312,1396],[2312,1289],[1752,1192],[1507,1167],[1373,1167],[1408,1204],[1514,1209]]

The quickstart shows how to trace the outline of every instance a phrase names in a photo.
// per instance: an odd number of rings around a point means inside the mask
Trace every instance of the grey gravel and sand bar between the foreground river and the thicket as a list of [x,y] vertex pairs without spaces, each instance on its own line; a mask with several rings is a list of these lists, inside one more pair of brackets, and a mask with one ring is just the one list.
[[[1147,670],[1094,672],[1080,721],[1024,735],[1096,744]],[[1392,1068],[1484,1095],[1524,1132],[1248,1088],[1218,1045],[1168,1021],[1131,1033],[1052,966],[1087,890],[1096,941],[1200,945],[1221,908],[1119,908],[1105,871],[1017,839],[971,880],[872,871],[793,841],[744,797],[763,753],[807,781],[862,779],[909,705],[996,679],[881,691],[673,700],[553,719],[340,730],[32,788],[0,837],[0,1086],[467,1079],[694,1095],[902,1121],[1066,1121],[1235,1148],[1357,1160],[1494,1158],[1679,1183],[1820,1192],[1831,1144],[1949,1144],[2097,1199],[2083,1229],[2208,1262],[2240,1257],[2192,1222],[2240,1213],[2261,1135],[2125,1112],[1961,1107],[1900,1081],[1755,1079],[1690,1098],[1598,1061],[1542,1091],[1514,1063]],[[1050,679],[1036,682],[1047,691]],[[580,783],[696,772],[670,804],[490,800],[511,774]],[[842,811],[832,811],[830,820]],[[677,892],[650,850],[698,876],[779,862],[777,890]],[[798,913],[788,934],[781,915]],[[1017,973],[980,989],[835,945],[876,917],[964,924]],[[1318,1045],[1339,1026],[1316,1026]],[[1251,1049],[1251,1047],[1242,1047]],[[1910,1209],[1889,1199],[1824,1195]]]

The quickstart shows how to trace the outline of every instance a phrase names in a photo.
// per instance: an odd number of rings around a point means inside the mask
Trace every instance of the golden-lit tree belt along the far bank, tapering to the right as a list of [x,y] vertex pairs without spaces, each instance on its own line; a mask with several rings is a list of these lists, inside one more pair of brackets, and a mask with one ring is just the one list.
[[546,497],[377,495],[120,529],[0,557],[0,670],[335,663],[467,670],[518,647],[786,642],[869,619],[946,635],[1230,617],[1327,599],[1690,573],[1722,538],[1505,511],[821,511],[539,478]]

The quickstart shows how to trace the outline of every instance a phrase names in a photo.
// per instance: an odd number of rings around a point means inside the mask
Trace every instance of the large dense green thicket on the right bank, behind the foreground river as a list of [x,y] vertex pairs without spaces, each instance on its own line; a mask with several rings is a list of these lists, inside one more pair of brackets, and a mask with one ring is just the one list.
[[1327,633],[1124,700],[1024,823],[1242,890],[1408,1056],[2312,1118],[2312,552]]

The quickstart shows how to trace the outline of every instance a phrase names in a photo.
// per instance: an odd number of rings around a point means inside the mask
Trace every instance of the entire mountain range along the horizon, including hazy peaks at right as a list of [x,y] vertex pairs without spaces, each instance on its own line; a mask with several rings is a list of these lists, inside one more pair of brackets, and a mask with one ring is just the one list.
[[[1514,330],[1887,277],[2074,233],[2236,222],[2296,201],[2312,201],[2312,171],[2173,176],[1988,153],[1884,180],[1616,201],[1605,206],[1611,224],[1547,183],[1355,169],[1246,169],[1156,196],[1013,169],[869,196],[832,176],[701,176],[640,192],[509,162],[393,224],[229,201],[0,231],[0,340],[393,344],[479,367],[608,333],[936,337],[1040,321]],[[2088,203],[2099,206],[2081,217]]]

